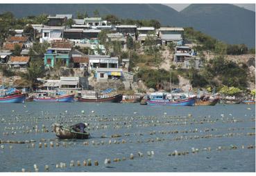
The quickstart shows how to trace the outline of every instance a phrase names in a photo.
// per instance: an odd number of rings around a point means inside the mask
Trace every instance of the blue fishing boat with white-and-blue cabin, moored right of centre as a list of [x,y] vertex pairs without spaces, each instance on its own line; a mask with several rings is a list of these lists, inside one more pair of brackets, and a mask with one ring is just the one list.
[[185,99],[172,99],[164,92],[155,92],[146,98],[148,105],[166,105],[166,106],[194,106],[196,97]]

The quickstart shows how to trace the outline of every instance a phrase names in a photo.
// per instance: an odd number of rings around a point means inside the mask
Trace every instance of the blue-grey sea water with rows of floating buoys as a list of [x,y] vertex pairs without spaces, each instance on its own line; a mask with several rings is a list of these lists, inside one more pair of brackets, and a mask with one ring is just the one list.
[[[255,172],[254,105],[171,107],[28,102],[0,104],[0,120],[2,141],[35,140],[35,148],[31,143],[1,144],[1,172],[21,172],[22,168],[34,171],[33,164],[37,164],[40,172],[44,172],[46,164],[52,172]],[[51,124],[60,121],[70,125],[89,122],[92,138],[56,141]],[[42,126],[49,133],[42,133]],[[35,133],[35,128],[40,133]],[[115,134],[121,137],[112,138]],[[103,135],[107,138],[101,138]],[[212,136],[202,137],[206,135]],[[122,144],[122,140],[126,142]],[[50,147],[50,141],[54,147]],[[85,141],[89,145],[84,145]],[[42,148],[38,147],[40,142]],[[44,143],[48,144],[46,148]],[[237,148],[230,149],[231,145]],[[253,148],[247,148],[250,145]],[[211,150],[206,150],[209,147]],[[219,147],[221,150],[216,150]],[[198,148],[198,153],[191,153],[192,148]],[[175,150],[189,154],[169,156]],[[148,151],[154,155],[148,156]],[[131,153],[134,159],[130,159]],[[126,159],[122,160],[123,157]],[[111,159],[111,164],[104,164],[106,158]],[[121,161],[113,162],[114,158]],[[83,166],[85,159],[92,159],[92,166]],[[69,166],[71,160],[75,166]],[[99,166],[94,166],[95,160]],[[77,161],[81,166],[77,166]],[[67,167],[56,168],[60,162]]]

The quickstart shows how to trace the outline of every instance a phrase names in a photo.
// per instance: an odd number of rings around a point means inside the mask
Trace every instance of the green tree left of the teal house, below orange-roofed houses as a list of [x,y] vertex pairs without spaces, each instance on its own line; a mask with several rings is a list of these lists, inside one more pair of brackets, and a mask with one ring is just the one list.
[[22,73],[22,78],[28,82],[29,88],[33,90],[37,83],[38,77],[44,76],[44,63],[42,60],[40,61],[31,61],[27,68],[26,73]]

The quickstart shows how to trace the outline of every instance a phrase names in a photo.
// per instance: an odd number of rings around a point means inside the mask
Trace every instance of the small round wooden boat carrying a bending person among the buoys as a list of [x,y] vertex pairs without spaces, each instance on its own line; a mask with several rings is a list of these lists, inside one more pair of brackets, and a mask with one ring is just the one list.
[[90,134],[87,132],[79,133],[68,126],[60,124],[53,124],[53,131],[60,139],[89,139],[90,137]]

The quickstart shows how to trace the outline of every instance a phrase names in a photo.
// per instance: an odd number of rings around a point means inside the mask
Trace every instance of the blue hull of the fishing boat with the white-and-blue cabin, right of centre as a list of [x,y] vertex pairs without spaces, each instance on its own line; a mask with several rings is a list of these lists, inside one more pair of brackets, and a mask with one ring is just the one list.
[[180,101],[166,100],[147,100],[148,105],[164,105],[164,106],[194,106],[196,102],[195,98],[182,99]]

